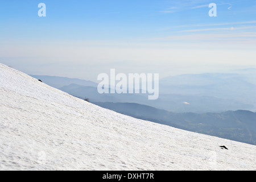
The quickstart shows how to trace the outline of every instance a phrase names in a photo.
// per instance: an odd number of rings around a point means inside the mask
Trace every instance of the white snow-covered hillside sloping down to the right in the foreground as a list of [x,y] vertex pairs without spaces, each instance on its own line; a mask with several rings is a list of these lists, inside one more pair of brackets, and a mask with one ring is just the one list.
[[118,114],[0,64],[0,169],[255,170],[256,146]]

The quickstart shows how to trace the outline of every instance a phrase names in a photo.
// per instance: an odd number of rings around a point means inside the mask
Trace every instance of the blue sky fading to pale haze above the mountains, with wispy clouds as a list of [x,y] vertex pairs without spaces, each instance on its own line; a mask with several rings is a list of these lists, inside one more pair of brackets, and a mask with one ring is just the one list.
[[0,63],[28,74],[162,78],[256,68],[255,57],[256,1],[0,1]]

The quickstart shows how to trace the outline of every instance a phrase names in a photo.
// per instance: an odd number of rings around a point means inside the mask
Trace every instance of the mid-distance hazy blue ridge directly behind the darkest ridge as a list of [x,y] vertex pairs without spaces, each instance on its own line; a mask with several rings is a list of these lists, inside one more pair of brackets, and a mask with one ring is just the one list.
[[245,104],[235,99],[202,96],[200,94],[159,94],[158,100],[148,100],[147,94],[99,94],[95,87],[76,84],[63,86],[60,90],[79,98],[89,98],[93,102],[134,102],[178,113],[250,110],[254,107],[252,104]]

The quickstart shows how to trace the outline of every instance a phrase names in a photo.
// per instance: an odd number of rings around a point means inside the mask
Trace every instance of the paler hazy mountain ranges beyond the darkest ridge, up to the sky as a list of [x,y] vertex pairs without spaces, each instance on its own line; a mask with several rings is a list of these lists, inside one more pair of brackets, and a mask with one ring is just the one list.
[[147,94],[99,94],[97,83],[76,78],[36,76],[46,84],[93,102],[134,102],[176,113],[256,111],[256,69],[178,75],[159,80],[158,100]]

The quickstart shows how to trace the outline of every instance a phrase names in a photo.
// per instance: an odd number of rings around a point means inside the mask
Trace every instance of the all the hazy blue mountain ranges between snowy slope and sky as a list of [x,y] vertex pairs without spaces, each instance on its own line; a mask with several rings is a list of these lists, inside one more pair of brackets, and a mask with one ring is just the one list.
[[[158,100],[147,94],[99,94],[97,83],[35,76],[46,84],[118,113],[180,129],[256,144],[256,69],[159,80]],[[249,111],[250,110],[250,111]]]

